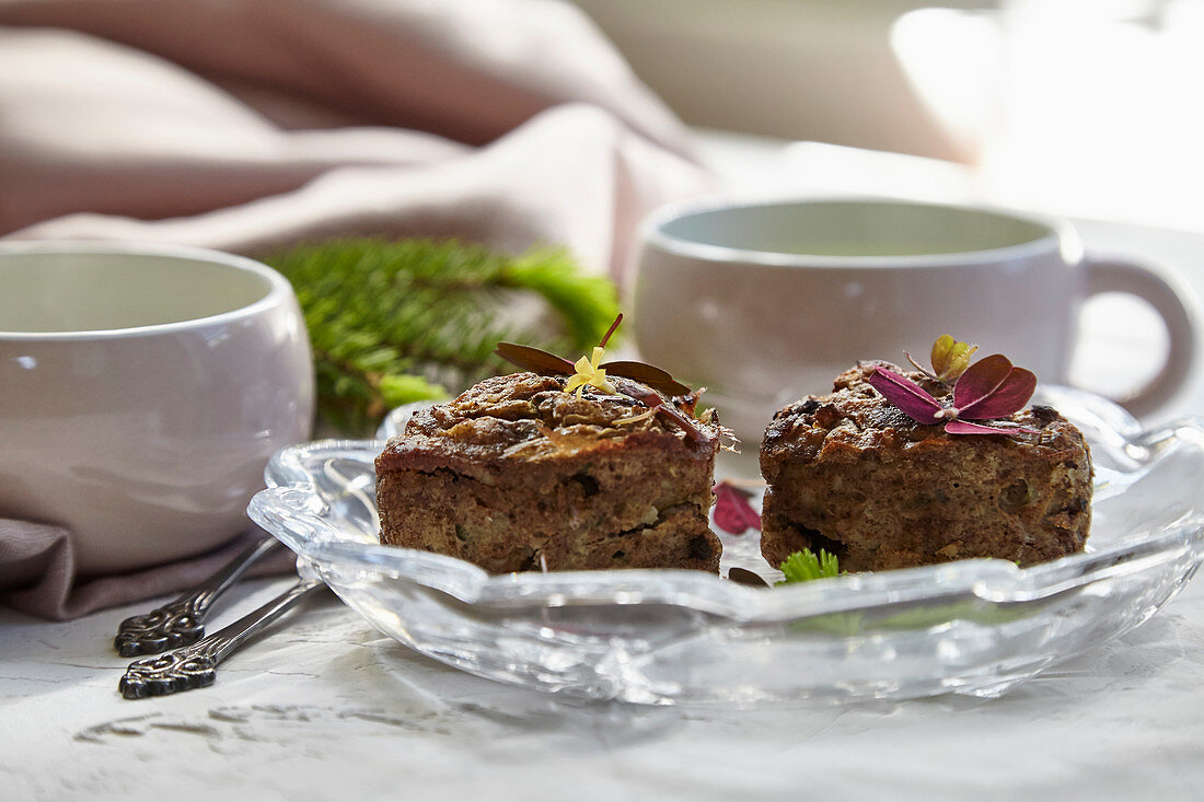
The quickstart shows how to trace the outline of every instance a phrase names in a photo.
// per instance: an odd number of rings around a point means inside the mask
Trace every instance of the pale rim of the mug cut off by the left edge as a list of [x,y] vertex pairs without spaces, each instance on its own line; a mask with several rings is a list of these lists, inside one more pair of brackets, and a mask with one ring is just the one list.
[[268,267],[250,256],[243,256],[213,248],[170,243],[88,240],[71,242],[52,240],[0,242],[0,260],[14,254],[78,256],[126,254],[131,256],[207,261],[255,273],[267,281],[268,290],[262,297],[252,301],[250,303],[244,303],[225,312],[218,312],[217,314],[207,314],[199,318],[189,318],[187,320],[152,323],[141,326],[126,326],[120,329],[81,329],[72,331],[7,331],[0,329],[0,341],[6,342],[120,340],[190,331],[209,325],[220,325],[242,318],[254,317],[264,311],[279,306],[282,301],[285,301],[293,295],[293,285],[279,273],[279,271],[273,270],[272,267]]

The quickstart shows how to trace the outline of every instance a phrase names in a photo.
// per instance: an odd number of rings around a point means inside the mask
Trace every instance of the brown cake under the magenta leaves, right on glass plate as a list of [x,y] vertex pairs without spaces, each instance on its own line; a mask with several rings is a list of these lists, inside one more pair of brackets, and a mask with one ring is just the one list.
[[[911,420],[866,382],[842,373],[831,395],[778,412],[761,446],[768,483],[761,553],[780,565],[827,549],[846,571],[966,558],[1021,566],[1082,549],[1091,526],[1091,454],[1050,407],[1009,418],[1035,434],[948,435]],[[926,391],[948,391],[904,373]]]

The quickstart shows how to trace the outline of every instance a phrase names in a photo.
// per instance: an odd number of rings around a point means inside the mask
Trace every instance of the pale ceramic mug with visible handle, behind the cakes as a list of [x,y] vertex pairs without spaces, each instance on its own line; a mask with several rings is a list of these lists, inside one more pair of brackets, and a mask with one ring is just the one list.
[[1066,383],[1079,308],[1098,293],[1146,300],[1170,335],[1157,376],[1121,400],[1132,412],[1164,403],[1193,358],[1191,294],[1146,267],[1085,258],[1062,220],[870,199],[702,199],[654,212],[641,234],[642,358],[708,387],[746,443],[857,360],[898,362],[907,349],[925,364],[942,334]]

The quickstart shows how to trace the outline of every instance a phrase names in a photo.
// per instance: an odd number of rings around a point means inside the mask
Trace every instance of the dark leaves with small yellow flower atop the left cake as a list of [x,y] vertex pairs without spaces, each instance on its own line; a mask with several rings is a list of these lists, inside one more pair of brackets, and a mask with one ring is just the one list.
[[[594,349],[592,358],[586,359],[585,356],[582,356],[576,364],[568,361],[563,356],[556,356],[555,354],[549,354],[545,350],[532,348],[531,346],[520,346],[513,342],[497,343],[495,353],[508,362],[533,373],[543,376],[568,376],[569,379],[565,384],[566,393],[576,390],[578,395],[582,395],[585,387],[589,385],[603,393],[627,396],[633,401],[638,401],[655,413],[663,414],[666,418],[675,423],[683,431],[685,431],[692,441],[697,443],[710,442],[710,434],[701,429],[697,425],[697,420],[692,417],[698,394],[674,379],[668,371],[661,370],[655,365],[637,361],[600,361],[602,359],[602,349],[606,347],[610,335],[614,334],[614,330],[619,328],[621,322],[622,314],[618,316],[614,319],[614,323],[610,324],[610,328],[607,330],[606,335],[603,335],[598,346]],[[615,378],[616,381],[612,382],[612,378]],[[602,384],[603,387],[598,387],[598,384]],[[656,390],[659,390],[659,393]],[[666,403],[666,399],[661,395],[661,393],[671,396],[673,401]],[[678,403],[686,407],[690,415],[684,414],[681,409],[678,408]],[[627,420],[630,421],[632,419]]]

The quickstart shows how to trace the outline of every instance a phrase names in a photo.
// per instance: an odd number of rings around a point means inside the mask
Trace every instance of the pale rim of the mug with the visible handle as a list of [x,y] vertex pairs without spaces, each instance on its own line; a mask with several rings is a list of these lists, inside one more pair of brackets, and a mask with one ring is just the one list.
[[[825,255],[785,253],[781,250],[757,250],[733,246],[712,244],[669,235],[665,226],[697,214],[710,212],[750,210],[780,206],[833,206],[833,205],[892,205],[908,207],[926,207],[961,212],[976,212],[1003,217],[1015,222],[1027,223],[1045,229],[1045,234],[1010,246],[981,248],[978,250],[955,250],[928,254],[896,255]],[[880,269],[880,267],[955,267],[968,265],[997,264],[999,261],[1025,259],[1043,253],[1058,252],[1066,261],[1076,263],[1082,258],[1082,246],[1074,229],[1061,218],[1046,217],[1028,212],[1016,212],[982,204],[957,204],[908,200],[899,197],[879,197],[872,195],[762,195],[733,196],[707,195],[667,204],[650,212],[641,225],[641,241],[645,247],[655,246],[665,253],[713,264],[743,264],[759,267],[790,267],[816,270],[843,269]]]

